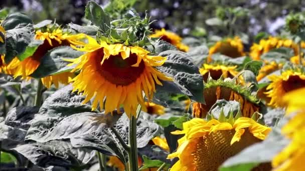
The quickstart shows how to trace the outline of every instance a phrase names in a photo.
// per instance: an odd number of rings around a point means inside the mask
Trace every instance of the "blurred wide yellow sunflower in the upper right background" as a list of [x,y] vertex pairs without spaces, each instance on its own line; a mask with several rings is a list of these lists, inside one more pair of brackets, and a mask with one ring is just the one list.
[[[254,60],[259,60],[260,55],[262,55],[263,53],[266,53],[273,48],[279,48],[279,47],[292,48],[293,51],[294,51],[294,54],[295,55],[298,54],[297,44],[294,43],[292,40],[269,36],[268,39],[261,39],[258,44],[254,43],[250,47],[250,56]],[[302,48],[305,47],[304,42],[301,43],[301,47]]]

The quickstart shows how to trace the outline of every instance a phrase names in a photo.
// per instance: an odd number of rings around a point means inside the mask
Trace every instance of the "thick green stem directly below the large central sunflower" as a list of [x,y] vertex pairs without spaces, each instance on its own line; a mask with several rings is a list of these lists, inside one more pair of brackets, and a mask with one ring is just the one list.
[[[139,105],[136,110],[136,116],[141,112],[141,106]],[[129,119],[129,146],[128,159],[129,159],[129,171],[137,171],[137,145],[136,145],[136,117],[131,115]]]

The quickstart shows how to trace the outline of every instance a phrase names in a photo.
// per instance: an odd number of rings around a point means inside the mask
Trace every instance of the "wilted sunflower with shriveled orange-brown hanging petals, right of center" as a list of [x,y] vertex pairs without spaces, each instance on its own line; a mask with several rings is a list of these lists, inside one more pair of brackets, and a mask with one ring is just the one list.
[[251,95],[248,88],[232,81],[208,80],[204,86],[206,104],[193,103],[192,113],[194,117],[205,118],[208,111],[218,99],[236,100],[240,103],[242,116],[252,117],[255,111],[259,111],[260,102],[256,96]]

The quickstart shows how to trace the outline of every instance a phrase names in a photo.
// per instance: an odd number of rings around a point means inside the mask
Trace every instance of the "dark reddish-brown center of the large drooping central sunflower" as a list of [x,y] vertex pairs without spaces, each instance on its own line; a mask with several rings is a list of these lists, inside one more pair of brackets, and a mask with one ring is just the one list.
[[[104,56],[103,49],[96,50],[96,54],[100,56],[100,58],[96,57],[97,66],[100,66],[100,61]],[[138,67],[131,66],[136,61],[137,55],[134,53],[130,53],[130,56],[126,59],[122,59],[120,54],[110,55],[99,68],[100,74],[113,84],[128,85],[134,82],[145,69],[143,60],[141,60]]]

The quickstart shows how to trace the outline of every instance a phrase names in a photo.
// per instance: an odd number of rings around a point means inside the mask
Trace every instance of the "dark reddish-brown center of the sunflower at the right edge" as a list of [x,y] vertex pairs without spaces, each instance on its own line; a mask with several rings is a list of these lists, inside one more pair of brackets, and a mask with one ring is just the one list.
[[289,76],[288,80],[282,82],[283,89],[288,92],[294,89],[305,87],[305,80],[297,75]]

